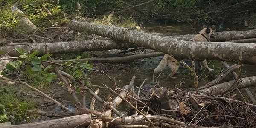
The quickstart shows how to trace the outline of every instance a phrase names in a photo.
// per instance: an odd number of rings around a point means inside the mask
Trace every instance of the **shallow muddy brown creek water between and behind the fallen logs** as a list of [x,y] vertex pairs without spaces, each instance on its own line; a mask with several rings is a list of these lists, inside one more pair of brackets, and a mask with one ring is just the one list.
[[[157,31],[157,32],[163,32],[163,33],[172,33],[172,34],[195,34],[194,31],[191,31],[192,28],[195,29],[195,31],[199,31],[198,26],[190,26],[188,24],[175,24],[175,25],[165,25],[165,24],[150,24],[146,25],[145,29],[148,31]],[[242,27],[239,26],[228,26],[229,30],[238,30],[238,29],[243,29]],[[224,30],[227,30],[227,27],[224,26]],[[221,30],[218,30],[221,31]],[[134,80],[134,89],[137,91],[140,85],[143,83],[145,79],[147,79],[143,85],[143,89],[148,90],[152,88],[154,85],[157,87],[159,84],[156,84],[156,81],[160,83],[161,86],[167,87],[167,88],[175,88],[175,87],[180,87],[180,85],[183,85],[182,88],[194,88],[193,87],[193,77],[190,75],[190,71],[186,68],[183,68],[183,66],[180,66],[179,70],[177,71],[177,74],[175,74],[174,77],[177,77],[177,79],[170,79],[168,78],[168,75],[170,73],[170,69],[166,68],[163,70],[162,74],[160,77],[154,77],[152,71],[154,68],[157,67],[159,64],[160,60],[162,59],[163,56],[161,57],[151,57],[147,59],[141,59],[141,60],[135,60],[137,63],[124,63],[123,65],[130,65],[124,68],[111,68],[107,71],[105,71],[106,74],[111,77],[112,80],[115,79],[116,85],[118,85],[118,81],[120,81],[120,88],[122,88],[124,85],[128,85],[131,78],[133,76],[136,76]],[[187,63],[189,66],[191,66],[192,61],[188,59],[184,59],[185,63]],[[209,61],[208,61],[209,62]],[[199,85],[202,85],[207,82],[207,80],[213,80],[215,77],[217,77],[222,69],[224,69],[224,66],[217,60],[211,61],[209,64],[210,68],[215,69],[215,71],[208,71],[200,70],[198,66],[198,62],[195,62],[196,64],[196,72],[198,76],[201,76],[199,78]],[[233,63],[228,63],[229,65],[232,65]],[[108,64],[106,64],[108,65]],[[215,68],[212,66],[214,65]],[[116,64],[116,67],[119,67],[120,64]],[[218,67],[221,68],[221,70],[218,69]],[[92,71],[92,73],[96,73],[97,71]],[[238,70],[236,70],[236,73],[238,73]],[[256,65],[244,65],[243,67],[243,72],[242,76],[243,77],[249,77],[249,76],[254,76],[256,75]],[[91,82],[93,85],[99,85],[103,86],[107,85],[109,87],[114,88],[113,82],[109,79],[108,76],[102,73],[98,73],[98,75],[91,77]],[[229,80],[233,80],[233,76],[230,75],[228,76],[225,80],[221,82],[226,82]],[[96,88],[94,88],[96,90]],[[108,98],[108,94],[110,94],[109,91],[107,90],[100,90],[99,97],[102,97],[105,101]],[[78,95],[79,96],[79,95]],[[90,95],[87,95],[87,102],[90,103]],[[112,98],[115,96],[112,96]],[[72,100],[72,97],[70,94],[67,94],[66,96],[63,97],[63,100]],[[96,104],[96,108],[101,109],[102,105],[99,103]],[[122,104],[118,108],[119,110],[125,111],[126,107],[125,104]]]

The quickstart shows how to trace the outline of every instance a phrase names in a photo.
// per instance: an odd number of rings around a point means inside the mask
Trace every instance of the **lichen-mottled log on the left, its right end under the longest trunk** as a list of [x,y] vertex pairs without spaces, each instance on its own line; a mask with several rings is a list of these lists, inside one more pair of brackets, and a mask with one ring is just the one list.
[[[87,40],[87,41],[75,41],[75,42],[56,42],[46,43],[51,54],[64,54],[64,53],[82,53],[84,51],[98,51],[98,50],[110,50],[110,49],[124,49],[127,50],[133,47],[131,43],[120,43],[118,40]],[[4,46],[0,47],[0,51],[9,52],[12,57],[18,57],[20,54],[13,50],[15,47],[21,47],[26,51],[32,53],[36,49],[40,51],[40,54],[46,54],[44,43],[35,43],[30,45],[17,45],[17,46]]]

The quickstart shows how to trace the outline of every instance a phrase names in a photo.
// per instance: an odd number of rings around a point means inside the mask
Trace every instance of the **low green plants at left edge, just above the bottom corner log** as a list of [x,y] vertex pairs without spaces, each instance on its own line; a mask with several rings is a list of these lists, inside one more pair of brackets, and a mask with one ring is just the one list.
[[34,109],[33,101],[19,101],[14,93],[0,93],[0,123],[10,121],[15,122],[26,120],[30,122],[26,115],[27,109]]

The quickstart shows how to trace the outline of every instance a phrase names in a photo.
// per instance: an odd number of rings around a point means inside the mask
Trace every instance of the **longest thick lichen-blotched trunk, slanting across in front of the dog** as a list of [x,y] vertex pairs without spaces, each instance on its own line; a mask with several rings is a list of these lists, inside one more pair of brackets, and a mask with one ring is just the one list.
[[71,21],[69,27],[74,30],[87,31],[111,39],[134,43],[174,57],[191,60],[224,60],[256,65],[256,44],[254,43],[191,42],[131,31],[128,28],[77,21]]

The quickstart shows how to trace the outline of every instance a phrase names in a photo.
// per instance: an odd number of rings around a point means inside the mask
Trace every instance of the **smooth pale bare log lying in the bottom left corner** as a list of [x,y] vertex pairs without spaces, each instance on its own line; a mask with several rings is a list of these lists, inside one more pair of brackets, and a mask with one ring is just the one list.
[[75,128],[77,126],[85,127],[90,124],[91,118],[91,114],[83,114],[42,122],[5,126],[1,128]]

